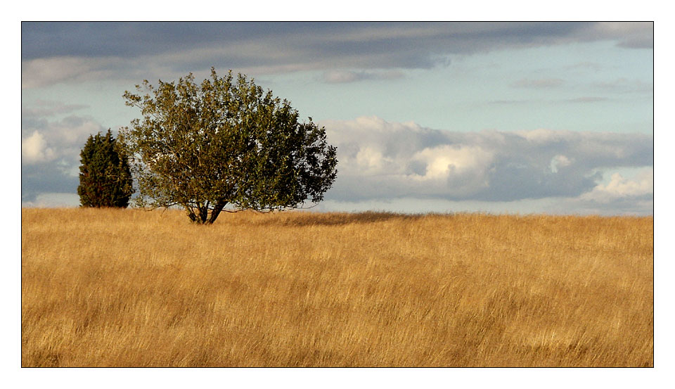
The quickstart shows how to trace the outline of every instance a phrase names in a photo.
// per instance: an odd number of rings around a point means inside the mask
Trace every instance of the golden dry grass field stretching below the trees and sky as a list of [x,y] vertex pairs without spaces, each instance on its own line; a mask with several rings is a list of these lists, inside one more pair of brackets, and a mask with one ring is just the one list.
[[23,366],[653,366],[653,218],[23,209]]

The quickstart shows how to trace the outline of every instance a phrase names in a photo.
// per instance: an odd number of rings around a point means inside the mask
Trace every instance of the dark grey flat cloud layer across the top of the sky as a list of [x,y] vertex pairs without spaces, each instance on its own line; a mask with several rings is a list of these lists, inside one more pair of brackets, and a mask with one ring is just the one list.
[[446,65],[447,56],[608,40],[649,47],[652,23],[22,23],[22,84]]

